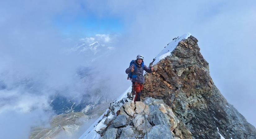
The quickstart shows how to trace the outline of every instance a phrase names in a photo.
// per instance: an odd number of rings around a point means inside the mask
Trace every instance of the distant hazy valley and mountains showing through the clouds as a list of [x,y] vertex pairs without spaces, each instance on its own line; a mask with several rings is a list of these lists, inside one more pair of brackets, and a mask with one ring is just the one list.
[[[75,53],[81,55],[87,59],[86,64],[88,64],[99,57],[106,57],[114,50],[114,47],[107,47],[106,44],[100,44],[99,41],[94,42],[94,39],[92,41],[88,42],[88,38],[86,38],[85,41],[80,42],[74,48],[66,50],[66,52],[67,54]],[[95,74],[90,67],[78,67],[74,74],[83,84],[88,86],[93,84],[92,80],[95,78]],[[39,125],[33,127],[29,138],[62,138],[60,134],[69,138],[76,134],[78,129],[85,123],[90,122],[95,117],[99,117],[111,102],[106,95],[108,94],[108,88],[105,87],[104,90],[101,90],[100,87],[88,88],[83,91],[83,95],[78,97],[67,97],[59,93],[52,95],[50,106],[56,115],[51,118],[49,126]],[[61,92],[61,94],[64,93],[68,94],[70,92],[65,90]]]

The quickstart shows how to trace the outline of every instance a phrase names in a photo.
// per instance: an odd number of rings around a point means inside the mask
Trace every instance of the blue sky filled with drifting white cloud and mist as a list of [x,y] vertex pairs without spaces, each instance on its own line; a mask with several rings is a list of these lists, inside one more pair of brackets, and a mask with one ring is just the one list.
[[[0,120],[6,138],[15,138],[10,135],[14,124],[23,127],[16,128],[16,137],[26,138],[30,127],[47,123],[56,90],[69,88],[62,95],[79,96],[88,87],[107,86],[115,99],[130,86],[124,71],[137,54],[149,65],[166,44],[187,32],[199,40],[222,95],[256,126],[254,0],[14,0],[1,1],[0,13],[0,119],[11,115]],[[66,53],[83,39],[115,49],[94,62]],[[94,86],[74,76],[83,66],[96,69]]]

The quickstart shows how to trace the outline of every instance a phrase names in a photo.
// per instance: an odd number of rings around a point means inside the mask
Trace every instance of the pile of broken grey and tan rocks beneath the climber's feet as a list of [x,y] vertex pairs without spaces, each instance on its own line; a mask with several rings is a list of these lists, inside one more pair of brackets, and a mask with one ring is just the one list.
[[101,135],[100,139],[180,139],[181,137],[178,132],[177,134],[172,132],[180,121],[163,100],[147,97],[143,102],[135,104],[134,101],[123,98],[117,103],[110,104],[106,116],[108,117],[102,120],[107,126],[97,131]]

